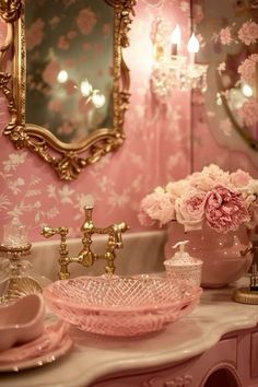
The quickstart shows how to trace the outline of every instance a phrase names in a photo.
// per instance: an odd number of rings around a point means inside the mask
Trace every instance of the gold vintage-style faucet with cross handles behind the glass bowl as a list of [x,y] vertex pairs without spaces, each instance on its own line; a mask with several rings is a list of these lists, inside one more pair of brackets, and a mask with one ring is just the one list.
[[[120,224],[112,224],[104,228],[98,228],[94,226],[92,221],[93,207],[86,206],[85,210],[85,221],[81,227],[83,233],[82,237],[82,249],[77,257],[69,257],[69,250],[67,246],[67,234],[69,232],[68,227],[57,227],[52,228],[46,226],[42,230],[42,235],[49,238],[54,235],[60,235],[60,248],[59,248],[59,265],[60,271],[58,277],[60,280],[67,280],[70,277],[68,270],[68,265],[72,262],[81,263],[84,267],[92,267],[95,260],[105,259],[107,261],[105,267],[105,272],[107,274],[113,274],[115,272],[114,260],[116,258],[115,249],[122,248],[122,237],[121,234],[129,230],[129,226],[122,222]],[[105,254],[95,254],[91,249],[92,235],[93,234],[106,234],[108,235],[107,249]]]

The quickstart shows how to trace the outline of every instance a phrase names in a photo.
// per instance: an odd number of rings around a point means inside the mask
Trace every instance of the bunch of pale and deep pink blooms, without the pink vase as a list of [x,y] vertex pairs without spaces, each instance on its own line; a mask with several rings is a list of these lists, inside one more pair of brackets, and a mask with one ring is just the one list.
[[204,225],[219,233],[242,224],[253,228],[258,224],[258,180],[242,169],[230,173],[211,164],[146,195],[139,221],[143,225],[176,221],[186,232]]

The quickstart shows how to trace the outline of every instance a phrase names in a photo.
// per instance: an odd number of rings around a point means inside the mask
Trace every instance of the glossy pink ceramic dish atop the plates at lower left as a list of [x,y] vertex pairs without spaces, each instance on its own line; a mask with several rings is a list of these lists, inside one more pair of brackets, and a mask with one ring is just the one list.
[[44,298],[39,294],[0,306],[0,351],[39,337],[44,331]]

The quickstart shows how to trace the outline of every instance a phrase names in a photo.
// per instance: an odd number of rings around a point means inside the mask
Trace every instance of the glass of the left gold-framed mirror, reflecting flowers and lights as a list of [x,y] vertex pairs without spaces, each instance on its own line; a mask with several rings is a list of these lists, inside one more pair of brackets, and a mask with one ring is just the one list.
[[26,121],[77,143],[113,125],[114,11],[103,0],[48,2],[25,2]]

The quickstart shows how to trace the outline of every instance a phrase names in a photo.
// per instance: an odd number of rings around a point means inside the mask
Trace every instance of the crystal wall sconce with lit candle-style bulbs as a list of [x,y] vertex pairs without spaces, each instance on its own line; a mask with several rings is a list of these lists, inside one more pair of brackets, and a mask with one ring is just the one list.
[[152,25],[153,69],[151,74],[152,91],[159,97],[168,96],[173,90],[207,90],[208,64],[196,63],[199,42],[195,35],[187,44],[188,56],[178,54],[180,27],[176,25],[168,39],[168,26],[163,19],[155,19]]

